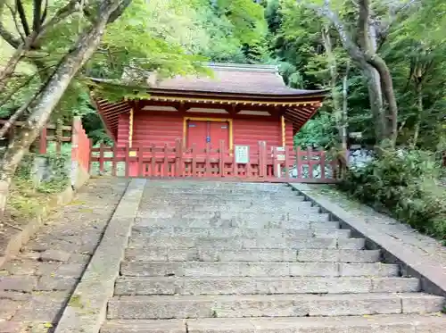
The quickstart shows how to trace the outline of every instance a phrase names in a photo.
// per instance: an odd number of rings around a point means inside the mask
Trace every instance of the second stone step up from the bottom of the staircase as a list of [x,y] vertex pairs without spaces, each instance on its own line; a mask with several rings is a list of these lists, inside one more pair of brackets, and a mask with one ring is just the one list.
[[441,296],[421,293],[274,296],[115,296],[108,319],[351,316],[440,312]]

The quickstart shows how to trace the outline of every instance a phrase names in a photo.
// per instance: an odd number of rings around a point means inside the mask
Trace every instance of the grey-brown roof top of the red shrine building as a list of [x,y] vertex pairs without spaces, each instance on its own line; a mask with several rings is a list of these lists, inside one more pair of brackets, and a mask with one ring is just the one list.
[[213,77],[177,76],[157,82],[156,75],[147,79],[155,89],[184,92],[209,92],[242,95],[311,96],[325,95],[325,90],[300,90],[286,87],[276,66],[210,63]]

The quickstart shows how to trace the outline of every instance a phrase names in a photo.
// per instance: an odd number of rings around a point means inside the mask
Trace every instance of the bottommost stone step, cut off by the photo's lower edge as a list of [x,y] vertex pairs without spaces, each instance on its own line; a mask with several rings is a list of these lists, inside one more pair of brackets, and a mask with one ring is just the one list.
[[391,314],[348,317],[210,318],[106,321],[101,333],[444,333],[446,316]]

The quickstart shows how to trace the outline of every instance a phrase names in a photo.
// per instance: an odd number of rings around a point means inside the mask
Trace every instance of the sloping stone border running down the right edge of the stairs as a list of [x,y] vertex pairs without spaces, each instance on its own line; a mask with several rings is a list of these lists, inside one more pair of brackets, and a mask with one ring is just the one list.
[[323,195],[316,195],[306,184],[288,184],[289,187],[304,196],[305,200],[320,207],[321,212],[330,215],[330,221],[338,221],[342,229],[351,229],[351,237],[366,239],[368,250],[381,250],[383,262],[397,263],[403,276],[420,280],[421,290],[428,294],[446,297],[446,267],[412,247],[404,247],[400,240],[376,229],[364,219],[345,211]]

